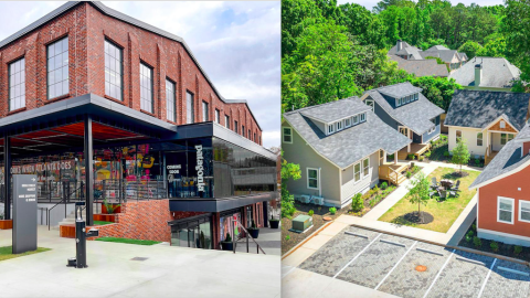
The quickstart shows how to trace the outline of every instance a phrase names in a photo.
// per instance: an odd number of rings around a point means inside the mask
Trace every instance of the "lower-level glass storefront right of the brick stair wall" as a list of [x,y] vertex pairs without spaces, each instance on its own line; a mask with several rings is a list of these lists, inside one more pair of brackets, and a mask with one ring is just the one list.
[[211,215],[186,219],[171,225],[171,245],[212,249]]

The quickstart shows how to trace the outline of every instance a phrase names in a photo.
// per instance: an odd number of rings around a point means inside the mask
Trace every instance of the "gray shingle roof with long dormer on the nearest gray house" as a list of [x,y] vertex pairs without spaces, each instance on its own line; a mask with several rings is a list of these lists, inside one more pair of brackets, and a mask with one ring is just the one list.
[[[342,99],[359,104],[359,98]],[[339,102],[310,108],[329,108]],[[358,102],[358,103],[353,103]],[[321,156],[343,169],[377,150],[395,152],[411,142],[409,138],[384,124],[371,110],[367,111],[367,121],[326,136],[309,118],[304,117],[304,109],[284,114],[284,119]]]

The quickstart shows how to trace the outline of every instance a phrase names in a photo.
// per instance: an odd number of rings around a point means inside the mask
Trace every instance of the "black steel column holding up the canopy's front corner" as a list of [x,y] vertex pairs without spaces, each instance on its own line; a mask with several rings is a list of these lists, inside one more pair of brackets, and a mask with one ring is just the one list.
[[85,116],[85,194],[86,194],[86,225],[94,225],[94,159],[92,143],[92,116]]

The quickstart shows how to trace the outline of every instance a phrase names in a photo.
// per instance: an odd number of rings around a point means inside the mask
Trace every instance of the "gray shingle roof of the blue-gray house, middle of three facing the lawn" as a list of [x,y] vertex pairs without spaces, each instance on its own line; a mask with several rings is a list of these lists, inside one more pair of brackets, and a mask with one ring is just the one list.
[[414,87],[410,82],[405,82],[392,86],[385,86],[368,91],[368,93],[370,94],[370,97],[373,98],[378,103],[378,105],[386,111],[386,114],[389,114],[392,118],[394,118],[402,125],[411,128],[417,135],[423,135],[425,131],[433,128],[434,124],[431,121],[431,119],[444,113],[442,108],[431,103],[421,93],[417,100],[400,107],[395,107],[395,105],[391,105],[388,99],[382,95],[383,92],[381,92],[381,89],[388,88],[391,88],[393,91],[403,89],[404,93],[410,94],[409,92],[416,87]]

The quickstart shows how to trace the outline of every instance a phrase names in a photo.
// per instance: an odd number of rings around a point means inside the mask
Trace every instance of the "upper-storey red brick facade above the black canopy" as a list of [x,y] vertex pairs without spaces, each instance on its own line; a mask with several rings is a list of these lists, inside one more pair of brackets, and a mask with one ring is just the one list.
[[[214,120],[215,109],[219,109],[221,125],[225,125],[224,115],[227,115],[232,130],[236,120],[240,135],[243,125],[245,130],[252,131],[247,138],[263,143],[262,130],[247,105],[224,103],[180,42],[106,15],[89,2],[75,6],[0,49],[0,117],[54,102],[47,99],[46,45],[64,36],[68,36],[70,94],[54,100],[92,93],[141,110],[139,84],[141,62],[152,67],[153,74],[153,109],[152,113],[144,113],[166,120],[166,78],[169,78],[177,85],[177,121],[173,124],[186,124],[186,93],[190,92],[194,95],[195,123],[203,121],[202,103],[205,102],[209,104],[209,120]],[[105,94],[105,39],[123,51],[123,100]],[[8,66],[21,57],[25,58],[26,65],[25,107],[9,111]]]

